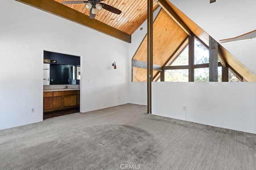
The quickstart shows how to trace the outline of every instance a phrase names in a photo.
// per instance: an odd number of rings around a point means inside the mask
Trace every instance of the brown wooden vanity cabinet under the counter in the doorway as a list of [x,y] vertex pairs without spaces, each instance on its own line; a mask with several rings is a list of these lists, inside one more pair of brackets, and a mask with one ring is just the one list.
[[80,90],[44,92],[44,111],[80,105]]

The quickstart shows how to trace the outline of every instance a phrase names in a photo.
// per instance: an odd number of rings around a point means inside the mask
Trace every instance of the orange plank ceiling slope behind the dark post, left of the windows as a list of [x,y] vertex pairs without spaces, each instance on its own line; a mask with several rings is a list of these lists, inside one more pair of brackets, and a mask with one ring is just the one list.
[[[164,10],[160,10],[153,24],[153,64],[164,65],[187,36],[187,33]],[[147,37],[143,39],[133,59],[146,62]],[[146,81],[145,68],[133,67],[133,72],[134,82]],[[153,76],[157,73],[158,71],[154,70]]]

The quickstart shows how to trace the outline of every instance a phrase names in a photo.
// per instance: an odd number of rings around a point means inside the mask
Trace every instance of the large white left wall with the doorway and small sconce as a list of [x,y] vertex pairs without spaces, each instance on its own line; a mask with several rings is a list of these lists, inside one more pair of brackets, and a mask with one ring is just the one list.
[[14,0],[0,22],[0,129],[42,121],[43,50],[81,56],[81,112],[129,102],[128,43]]

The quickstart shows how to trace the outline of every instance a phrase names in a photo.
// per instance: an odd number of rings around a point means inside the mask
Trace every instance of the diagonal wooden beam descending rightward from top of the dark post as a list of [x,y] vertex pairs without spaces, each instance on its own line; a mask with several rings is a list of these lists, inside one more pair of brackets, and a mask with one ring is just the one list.
[[170,7],[170,5],[165,0],[156,0],[156,2],[165,10],[170,17],[180,25],[180,27],[189,35],[192,36],[192,31],[188,26],[182,21],[182,19],[176,14],[176,12]]

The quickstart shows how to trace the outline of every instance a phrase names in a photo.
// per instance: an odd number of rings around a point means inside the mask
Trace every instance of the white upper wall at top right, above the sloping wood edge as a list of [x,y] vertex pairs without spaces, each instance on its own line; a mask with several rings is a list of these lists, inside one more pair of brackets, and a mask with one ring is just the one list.
[[[256,29],[255,0],[169,0],[216,41],[237,37]],[[256,38],[224,47],[256,74]]]

